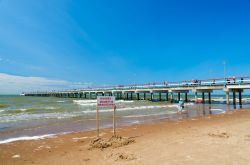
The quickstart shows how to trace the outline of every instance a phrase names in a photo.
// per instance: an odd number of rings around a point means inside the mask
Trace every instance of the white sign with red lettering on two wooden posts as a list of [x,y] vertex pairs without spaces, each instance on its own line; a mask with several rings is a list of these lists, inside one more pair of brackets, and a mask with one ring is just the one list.
[[97,96],[96,106],[96,133],[99,137],[99,107],[114,107],[113,111],[113,134],[115,135],[115,97],[114,96]]

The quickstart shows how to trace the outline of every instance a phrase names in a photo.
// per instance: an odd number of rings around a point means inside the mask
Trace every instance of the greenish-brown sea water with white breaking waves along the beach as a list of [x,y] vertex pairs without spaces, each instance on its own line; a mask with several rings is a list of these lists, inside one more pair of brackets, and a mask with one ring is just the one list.
[[[178,104],[151,101],[117,100],[117,125],[181,120],[221,114],[239,109],[226,105],[223,96],[215,96],[213,104],[186,103],[182,113]],[[243,108],[250,107],[244,97]],[[56,97],[0,96],[0,143],[94,130],[96,100]],[[112,127],[112,108],[100,109],[101,128]]]

